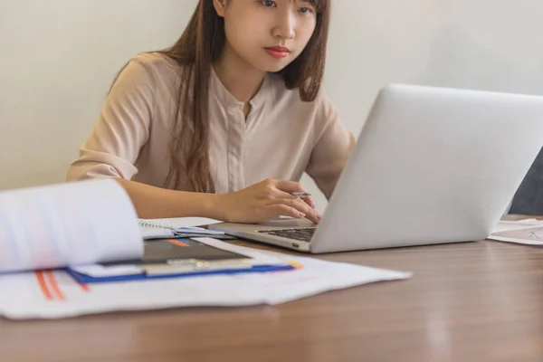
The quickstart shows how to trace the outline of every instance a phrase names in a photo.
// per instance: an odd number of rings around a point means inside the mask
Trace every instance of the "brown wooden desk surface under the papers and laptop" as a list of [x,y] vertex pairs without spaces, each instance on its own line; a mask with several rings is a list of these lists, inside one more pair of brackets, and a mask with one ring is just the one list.
[[414,278],[276,307],[0,319],[0,361],[543,361],[543,249],[481,242],[322,259]]

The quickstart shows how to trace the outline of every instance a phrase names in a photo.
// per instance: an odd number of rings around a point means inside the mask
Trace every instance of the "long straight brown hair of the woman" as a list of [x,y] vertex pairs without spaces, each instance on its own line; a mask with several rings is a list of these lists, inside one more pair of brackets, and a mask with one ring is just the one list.
[[[310,1],[317,7],[315,31],[300,56],[278,73],[288,89],[300,89],[303,101],[314,100],[319,92],[330,17],[330,0]],[[213,0],[200,0],[181,38],[160,52],[182,69],[166,185],[174,179],[178,186],[180,166],[185,165],[189,186],[195,192],[214,192],[207,107],[211,64],[221,56],[225,41],[224,19],[215,12]]]

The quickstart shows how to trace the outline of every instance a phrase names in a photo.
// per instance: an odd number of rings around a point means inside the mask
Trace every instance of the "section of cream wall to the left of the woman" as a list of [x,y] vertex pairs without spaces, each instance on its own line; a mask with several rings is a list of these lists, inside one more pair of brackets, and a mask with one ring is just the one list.
[[62,182],[119,69],[196,3],[0,0],[0,189]]

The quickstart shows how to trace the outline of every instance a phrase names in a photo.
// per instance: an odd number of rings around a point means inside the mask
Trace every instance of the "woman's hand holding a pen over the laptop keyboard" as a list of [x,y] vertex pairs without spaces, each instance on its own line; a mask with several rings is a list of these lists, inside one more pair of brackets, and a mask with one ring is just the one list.
[[308,218],[319,223],[320,215],[310,196],[295,197],[303,192],[298,182],[267,179],[243,190],[217,196],[218,218],[229,223],[261,223],[278,216]]

